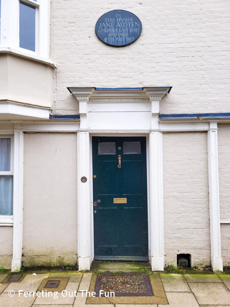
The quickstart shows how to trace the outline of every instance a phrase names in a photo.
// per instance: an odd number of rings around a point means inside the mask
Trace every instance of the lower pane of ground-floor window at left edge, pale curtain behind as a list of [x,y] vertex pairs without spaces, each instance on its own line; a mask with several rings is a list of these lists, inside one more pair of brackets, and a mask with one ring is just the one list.
[[13,214],[13,176],[0,176],[0,215]]

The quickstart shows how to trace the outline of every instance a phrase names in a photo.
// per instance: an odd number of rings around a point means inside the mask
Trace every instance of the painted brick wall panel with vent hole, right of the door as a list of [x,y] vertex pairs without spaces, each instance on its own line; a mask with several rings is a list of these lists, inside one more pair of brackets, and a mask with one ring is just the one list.
[[192,266],[210,265],[206,132],[163,134],[165,263],[191,254]]

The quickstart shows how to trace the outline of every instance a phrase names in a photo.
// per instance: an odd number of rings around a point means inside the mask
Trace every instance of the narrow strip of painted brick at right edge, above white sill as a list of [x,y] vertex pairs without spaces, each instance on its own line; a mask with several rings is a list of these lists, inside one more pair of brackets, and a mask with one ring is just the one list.
[[220,219],[227,220],[230,219],[230,124],[218,124],[218,128]]

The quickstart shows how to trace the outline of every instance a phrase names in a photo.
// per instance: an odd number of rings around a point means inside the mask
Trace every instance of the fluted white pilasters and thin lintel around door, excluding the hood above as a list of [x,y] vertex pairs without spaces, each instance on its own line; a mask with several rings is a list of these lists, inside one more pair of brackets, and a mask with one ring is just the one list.
[[[79,271],[90,270],[94,259],[93,219],[93,165],[92,136],[111,136],[117,133],[78,132],[78,266]],[[162,133],[119,133],[119,136],[145,136],[148,195],[148,251],[153,271],[164,270],[164,219],[163,219],[163,150]],[[90,165],[89,165],[90,164]],[[87,225],[87,226],[86,226]]]

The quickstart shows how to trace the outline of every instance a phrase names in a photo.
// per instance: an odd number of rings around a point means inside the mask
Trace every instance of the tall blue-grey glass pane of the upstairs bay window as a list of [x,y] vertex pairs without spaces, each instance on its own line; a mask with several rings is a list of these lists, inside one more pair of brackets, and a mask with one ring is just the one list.
[[35,51],[35,6],[20,1],[19,46]]

